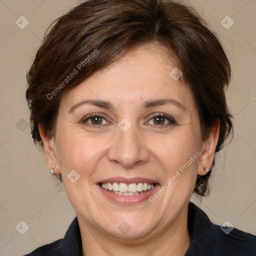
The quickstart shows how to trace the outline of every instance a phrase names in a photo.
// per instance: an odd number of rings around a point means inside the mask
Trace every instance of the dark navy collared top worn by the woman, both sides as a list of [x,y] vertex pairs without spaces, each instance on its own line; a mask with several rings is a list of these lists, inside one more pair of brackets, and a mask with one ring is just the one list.
[[[188,204],[187,227],[190,246],[184,256],[256,256],[256,235],[236,228],[226,234],[192,202]],[[81,256],[81,251],[81,234],[75,217],[63,239],[38,247],[25,256]]]

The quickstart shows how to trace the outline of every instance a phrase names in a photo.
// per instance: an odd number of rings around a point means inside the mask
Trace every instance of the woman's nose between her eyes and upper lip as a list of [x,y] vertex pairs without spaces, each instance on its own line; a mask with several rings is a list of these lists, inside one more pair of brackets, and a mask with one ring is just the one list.
[[145,163],[150,156],[148,148],[139,135],[136,135],[134,126],[134,124],[131,125],[126,131],[117,127],[116,135],[108,151],[108,159],[115,164],[121,164],[124,168],[132,168]]

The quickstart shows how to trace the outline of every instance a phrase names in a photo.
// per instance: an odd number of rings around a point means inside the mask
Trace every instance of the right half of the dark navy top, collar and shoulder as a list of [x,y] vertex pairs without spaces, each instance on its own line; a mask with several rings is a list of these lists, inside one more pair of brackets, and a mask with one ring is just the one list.
[[188,205],[190,247],[185,256],[256,256],[256,236],[237,228],[213,224],[194,203]]

